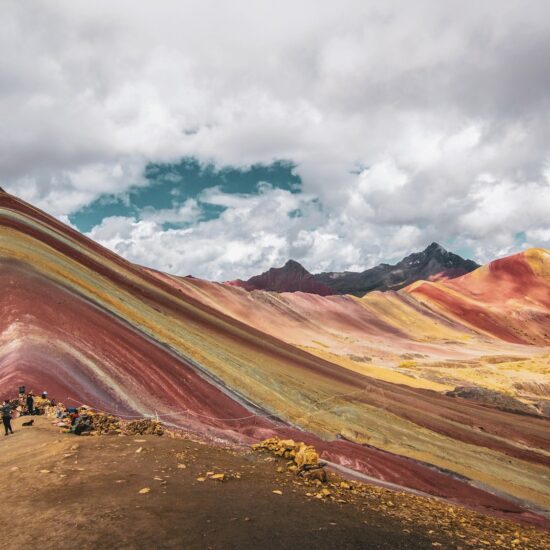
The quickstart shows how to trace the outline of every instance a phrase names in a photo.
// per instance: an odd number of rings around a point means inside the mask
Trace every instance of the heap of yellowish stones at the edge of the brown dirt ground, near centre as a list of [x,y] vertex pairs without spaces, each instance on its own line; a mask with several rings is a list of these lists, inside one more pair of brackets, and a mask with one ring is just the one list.
[[297,475],[309,479],[327,482],[325,464],[319,461],[319,453],[315,447],[293,439],[270,437],[252,445],[255,451],[267,451],[274,456],[286,458],[287,468]]

